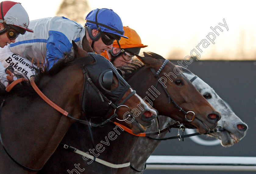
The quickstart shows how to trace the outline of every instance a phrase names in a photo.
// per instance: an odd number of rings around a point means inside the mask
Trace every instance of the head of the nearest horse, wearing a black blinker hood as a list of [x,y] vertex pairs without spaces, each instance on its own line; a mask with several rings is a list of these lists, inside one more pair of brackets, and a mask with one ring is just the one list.
[[[94,63],[84,66],[87,78],[84,84],[82,107],[89,118],[117,114],[117,122],[130,127],[133,133],[144,132],[153,124],[157,112],[144,102],[117,69],[103,56],[87,53],[73,42],[77,57],[92,57]],[[90,78],[90,80],[88,80]],[[97,88],[95,88],[97,86]]]

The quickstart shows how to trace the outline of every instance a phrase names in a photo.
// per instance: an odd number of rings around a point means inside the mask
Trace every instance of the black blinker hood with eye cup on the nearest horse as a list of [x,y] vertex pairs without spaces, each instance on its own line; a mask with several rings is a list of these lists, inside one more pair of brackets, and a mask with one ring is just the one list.
[[[119,74],[119,72],[116,70],[116,67],[113,66],[113,64],[110,63],[103,56],[95,53],[88,54],[90,54],[90,56],[95,59],[95,62],[93,64],[85,66],[85,71],[87,72],[95,86],[98,88],[98,90],[102,94],[104,94],[108,98],[108,100],[112,101],[112,103],[117,105],[122,99],[125,92],[130,88],[130,85]],[[118,87],[111,91],[108,90],[111,89],[111,86],[110,88],[108,88],[105,85],[109,85],[108,81],[112,82],[114,74],[118,78]],[[102,84],[105,82],[107,84]],[[110,85],[112,85],[112,83]],[[87,79],[84,87],[84,97],[82,98],[82,108],[86,115],[88,115],[89,117],[103,117],[104,115],[109,114],[110,111],[113,109],[107,101],[101,101],[100,95],[97,94],[96,90],[92,87]]]

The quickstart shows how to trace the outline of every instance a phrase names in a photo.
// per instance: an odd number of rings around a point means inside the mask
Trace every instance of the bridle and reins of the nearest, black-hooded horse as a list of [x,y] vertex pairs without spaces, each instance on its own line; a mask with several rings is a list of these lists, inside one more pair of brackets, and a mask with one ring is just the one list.
[[[20,78],[20,79],[17,79],[15,81],[13,81],[12,83],[8,84],[8,86],[6,87],[6,91],[9,92],[12,87],[14,87],[16,84],[22,82],[22,81],[28,81],[30,82],[31,86],[33,87],[33,89],[37,92],[37,94],[46,102],[48,103],[48,105],[50,105],[52,108],[54,108],[55,110],[57,110],[58,112],[62,113],[63,115],[71,118],[71,119],[74,119],[80,123],[83,123],[83,124],[86,124],[90,127],[94,126],[94,127],[97,127],[97,126],[103,126],[105,125],[106,123],[108,123],[109,121],[112,121],[112,119],[116,118],[117,114],[116,114],[116,111],[118,110],[118,108],[120,107],[127,107],[129,108],[128,106],[126,105],[123,105],[129,98],[131,98],[135,93],[136,91],[132,91],[128,96],[126,96],[126,98],[123,99],[123,101],[121,101],[118,105],[115,105],[112,101],[110,101],[104,94],[102,94],[99,89],[96,87],[96,85],[92,82],[91,78],[89,77],[89,75],[87,74],[87,72],[85,71],[86,69],[86,66],[84,66],[84,69],[83,69],[83,73],[84,73],[84,90],[85,89],[85,81],[88,80],[89,83],[91,84],[91,86],[97,91],[97,93],[100,95],[101,97],[101,100],[102,102],[104,101],[107,101],[109,105],[111,105],[115,111],[114,111],[114,114],[112,116],[110,116],[107,120],[105,120],[104,122],[100,123],[100,124],[94,124],[94,123],[91,123],[91,122],[88,122],[88,121],[85,121],[85,120],[80,120],[80,119],[75,119],[73,118],[67,111],[63,110],[62,108],[60,108],[58,105],[56,105],[54,102],[52,102],[50,99],[48,99],[40,90],[39,88],[37,87],[37,85],[35,84],[34,82],[34,76],[30,77],[30,80],[27,80],[25,78]],[[8,80],[13,80],[13,75],[12,73],[9,71],[9,69],[6,70],[6,73],[9,74],[8,76],[6,76],[6,78]],[[83,97],[84,97],[84,93],[83,93]],[[2,112],[2,107],[3,107],[3,104],[4,104],[4,101],[5,100],[2,100],[2,103],[1,103],[1,106],[0,106],[0,119],[1,119],[1,112]],[[129,111],[130,111],[130,108],[129,108]],[[111,112],[111,109],[109,109],[108,113],[109,114]],[[131,111],[128,115],[128,118],[129,117],[132,117],[131,115]],[[127,119],[128,119],[127,118]],[[29,167],[26,167],[22,164],[20,164],[19,162],[17,162],[10,154],[9,152],[6,150],[4,144],[3,144],[3,141],[2,141],[2,137],[1,137],[1,133],[0,133],[0,141],[1,141],[1,144],[6,152],[6,154],[8,154],[8,156],[12,159],[13,162],[15,162],[16,164],[20,165],[21,167],[23,167],[24,169],[28,170],[28,171],[33,171],[33,172],[38,172],[39,170],[41,169],[30,169]]]

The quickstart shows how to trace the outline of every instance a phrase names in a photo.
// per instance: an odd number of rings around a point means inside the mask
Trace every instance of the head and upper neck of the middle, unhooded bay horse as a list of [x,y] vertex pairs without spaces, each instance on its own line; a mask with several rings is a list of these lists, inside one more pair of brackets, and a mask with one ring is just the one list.
[[[159,115],[165,115],[176,121],[184,119],[185,115],[174,109],[176,108],[175,105],[169,102],[170,99],[166,97],[169,95],[180,108],[186,112],[193,111],[195,113],[195,119],[187,122],[187,126],[196,127],[199,133],[207,133],[209,130],[214,130],[221,118],[219,112],[212,108],[190,80],[184,76],[181,69],[178,70],[180,67],[168,61],[166,65],[169,66],[163,68],[162,72],[160,72],[161,76],[159,75],[157,79],[153,76],[150,68],[153,67],[157,70],[166,59],[151,52],[144,52],[144,56],[138,57],[144,63],[144,66],[137,64],[137,67],[123,69],[126,71],[124,78],[133,89],[139,91],[142,98],[148,98],[148,101],[158,110]],[[157,82],[158,85],[154,87]],[[157,89],[158,93],[154,95],[151,92],[153,89]],[[170,112],[170,110],[173,112]]]

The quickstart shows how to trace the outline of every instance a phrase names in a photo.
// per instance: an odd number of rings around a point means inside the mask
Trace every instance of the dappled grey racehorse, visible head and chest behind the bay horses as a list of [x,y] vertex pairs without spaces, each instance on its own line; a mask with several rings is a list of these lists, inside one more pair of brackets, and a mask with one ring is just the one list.
[[[245,124],[219,97],[218,94],[207,83],[193,74],[190,70],[181,67],[183,74],[193,83],[198,91],[206,98],[206,100],[221,113],[221,119],[218,121],[217,130],[214,133],[208,135],[219,138],[222,146],[232,146],[234,143],[238,143],[246,134],[248,129]],[[167,123],[174,123],[174,120],[160,116],[160,129],[164,129]],[[147,132],[152,132],[157,129],[157,124],[148,128]],[[164,138],[168,131],[161,133],[160,136],[153,136],[157,139]],[[160,144],[161,140],[152,140],[146,137],[139,137],[135,147],[133,148],[131,156],[131,166],[138,170],[143,171],[145,164],[149,156],[155,151],[156,147]],[[147,144],[148,148],[144,148],[143,145]],[[171,142],[170,142],[171,144]],[[135,170],[130,169],[130,173],[138,173]]]

